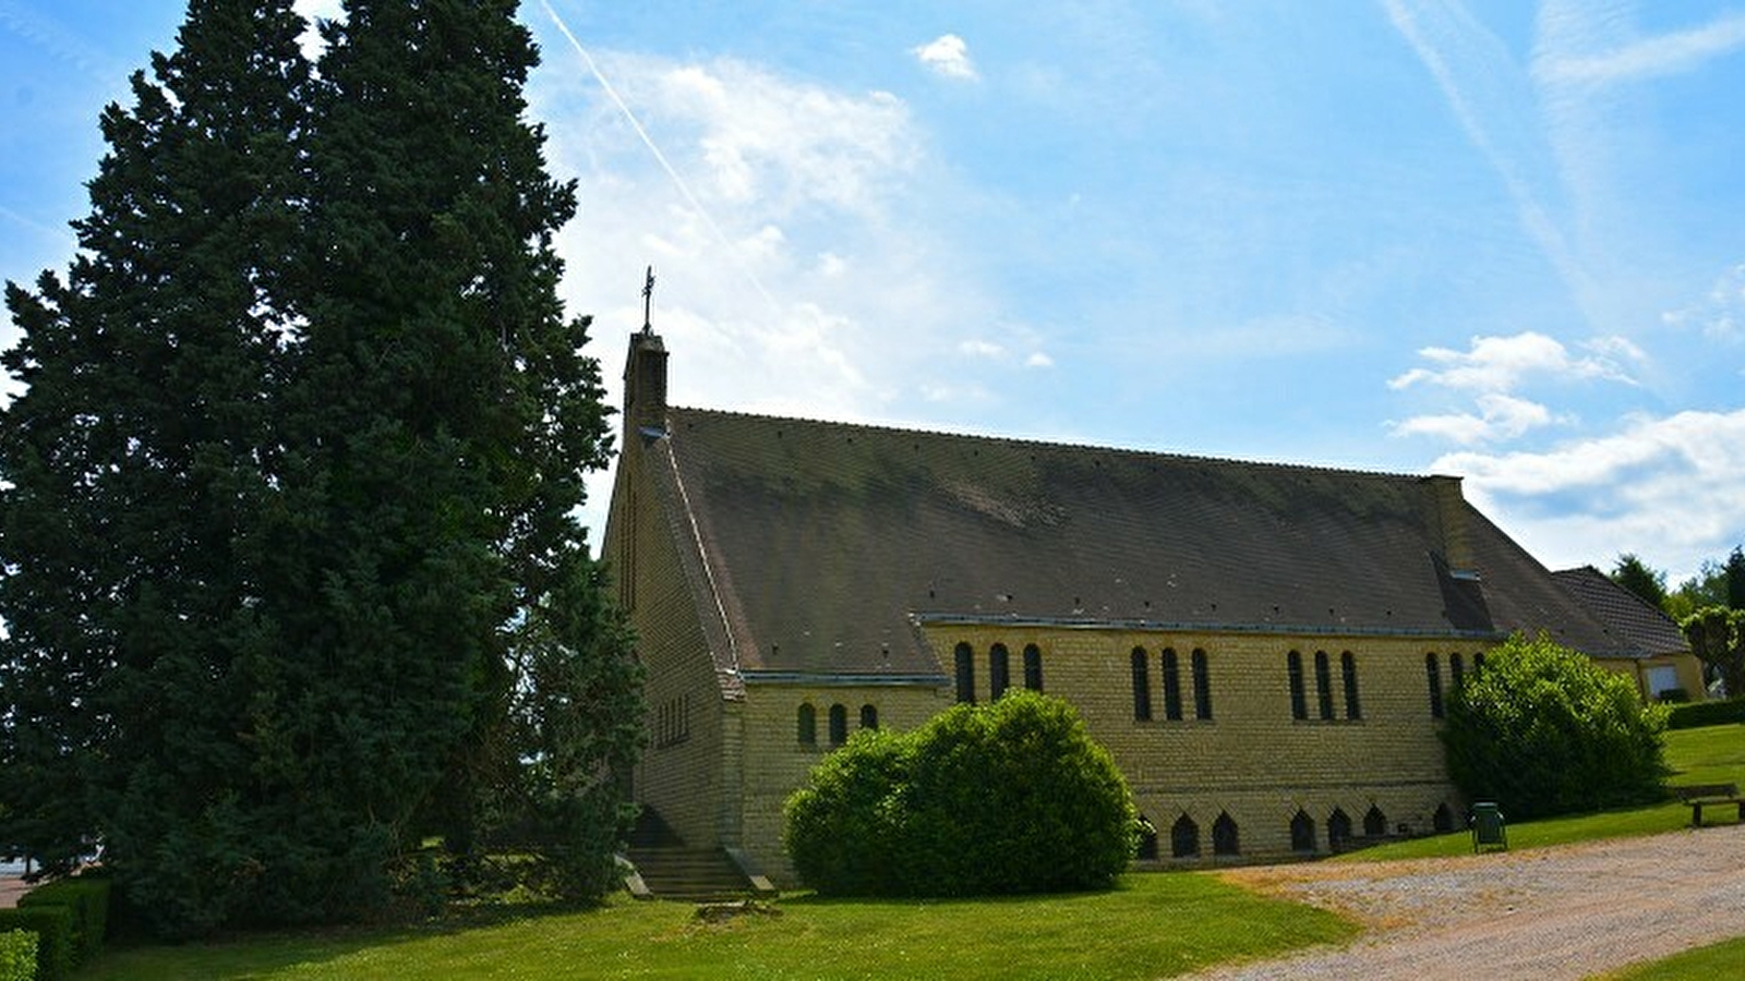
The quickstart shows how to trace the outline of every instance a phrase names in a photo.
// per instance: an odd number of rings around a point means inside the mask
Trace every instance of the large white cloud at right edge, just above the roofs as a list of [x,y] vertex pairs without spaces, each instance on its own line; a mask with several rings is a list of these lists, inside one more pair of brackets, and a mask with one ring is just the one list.
[[1548,566],[1635,552],[1673,580],[1745,539],[1745,410],[1637,417],[1550,452],[1448,454],[1468,496]]

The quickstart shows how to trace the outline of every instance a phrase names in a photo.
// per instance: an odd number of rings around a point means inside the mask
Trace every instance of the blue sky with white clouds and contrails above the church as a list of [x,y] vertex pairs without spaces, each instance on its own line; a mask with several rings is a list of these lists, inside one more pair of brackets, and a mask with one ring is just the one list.
[[[522,16],[614,398],[653,264],[682,405],[1459,473],[1553,567],[1745,541],[1745,2]],[[180,17],[0,0],[0,276]]]

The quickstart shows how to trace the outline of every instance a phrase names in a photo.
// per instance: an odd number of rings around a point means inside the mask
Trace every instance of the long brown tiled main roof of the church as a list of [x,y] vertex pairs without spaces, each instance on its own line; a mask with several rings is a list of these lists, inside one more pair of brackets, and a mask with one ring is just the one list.
[[937,676],[916,623],[982,620],[1616,646],[1436,478],[700,408],[665,433],[735,670]]

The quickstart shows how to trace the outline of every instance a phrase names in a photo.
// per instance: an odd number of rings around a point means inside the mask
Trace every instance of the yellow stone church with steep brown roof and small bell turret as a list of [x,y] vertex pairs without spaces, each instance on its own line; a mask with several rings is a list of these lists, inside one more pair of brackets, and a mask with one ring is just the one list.
[[647,670],[635,799],[777,882],[824,754],[1010,688],[1110,749],[1141,866],[1464,826],[1438,728],[1511,632],[1701,691],[1653,616],[1597,613],[1605,587],[1560,581],[1457,477],[681,408],[649,328],[623,426],[602,553]]

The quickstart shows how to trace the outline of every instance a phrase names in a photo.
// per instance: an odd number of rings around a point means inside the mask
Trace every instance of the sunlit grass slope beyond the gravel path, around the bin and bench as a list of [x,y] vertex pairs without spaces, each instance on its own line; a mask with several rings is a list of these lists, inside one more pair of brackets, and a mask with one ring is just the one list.
[[[1745,787],[1745,724],[1666,733],[1666,766],[1672,768],[1672,777],[1666,782],[1673,785],[1738,784]],[[1703,813],[1703,820],[1719,824],[1733,820],[1733,808],[1708,808]],[[1637,808],[1509,824],[1508,834],[1509,848],[1550,848],[1553,845],[1572,845],[1600,838],[1677,831],[1689,826],[1689,822],[1691,808],[1677,801],[1665,801]],[[1468,833],[1459,831],[1349,852],[1333,861],[1379,862],[1386,859],[1427,859],[1434,855],[1466,855],[1471,850],[1473,840]]]

